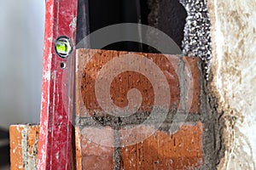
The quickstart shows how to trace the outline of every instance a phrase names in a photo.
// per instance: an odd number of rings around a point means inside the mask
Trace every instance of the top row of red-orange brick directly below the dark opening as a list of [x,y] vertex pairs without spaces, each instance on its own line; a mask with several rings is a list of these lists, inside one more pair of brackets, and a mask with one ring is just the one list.
[[[170,89],[170,109],[173,105],[179,105],[180,90],[179,90],[179,78],[178,71],[178,58],[175,55],[163,55],[163,54],[143,54],[133,52],[118,52],[111,50],[96,50],[96,49],[79,49],[77,52],[77,66],[76,66],[76,111],[79,116],[102,116],[99,112],[102,112],[101,106],[96,99],[95,84],[96,78],[101,69],[113,59],[118,59],[121,54],[137,54],[143,59],[150,59],[160,68],[160,71],[166,77],[168,88]],[[172,61],[166,58],[170,58]],[[187,60],[186,60],[187,59]],[[197,67],[197,59],[183,58],[185,63],[189,64],[192,71],[192,79],[194,82],[194,88],[189,89],[192,91],[192,108],[190,112],[199,113],[200,105],[200,83],[199,83],[199,71]],[[137,60],[135,63],[124,62],[122,64],[116,64],[116,66],[125,67],[125,65],[139,65],[145,67],[145,63],[140,63]],[[115,65],[112,65],[115,67]],[[195,72],[194,72],[195,71]],[[154,75],[150,69],[149,74]],[[110,73],[109,73],[110,74]],[[155,77],[154,81],[160,77]],[[195,81],[194,81],[195,79]],[[114,105],[119,107],[125,107],[128,105],[127,92],[131,88],[137,88],[142,96],[143,101],[138,111],[148,111],[151,106],[154,105],[154,88],[152,82],[148,80],[148,77],[135,71],[124,71],[113,78],[110,86],[110,96],[113,99]],[[108,90],[108,89],[106,89]],[[111,105],[109,106],[112,107]],[[103,111],[104,112],[104,111]],[[104,114],[103,114],[104,115]]]

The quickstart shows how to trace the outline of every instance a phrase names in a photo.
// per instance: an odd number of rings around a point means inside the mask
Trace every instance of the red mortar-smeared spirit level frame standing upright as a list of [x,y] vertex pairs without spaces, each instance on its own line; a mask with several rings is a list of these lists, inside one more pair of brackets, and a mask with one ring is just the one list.
[[[47,0],[38,169],[71,169],[75,50],[67,59],[55,53],[55,40],[76,42],[77,0]],[[61,62],[66,68],[61,69]]]

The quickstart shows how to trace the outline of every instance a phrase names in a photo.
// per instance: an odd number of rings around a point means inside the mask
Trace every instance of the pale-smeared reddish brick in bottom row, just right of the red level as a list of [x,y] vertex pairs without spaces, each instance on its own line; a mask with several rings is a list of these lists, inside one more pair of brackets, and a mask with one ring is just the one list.
[[114,169],[113,133],[111,131],[102,133],[102,128],[84,127],[81,131],[79,128],[76,129],[77,158],[79,157],[77,169]]

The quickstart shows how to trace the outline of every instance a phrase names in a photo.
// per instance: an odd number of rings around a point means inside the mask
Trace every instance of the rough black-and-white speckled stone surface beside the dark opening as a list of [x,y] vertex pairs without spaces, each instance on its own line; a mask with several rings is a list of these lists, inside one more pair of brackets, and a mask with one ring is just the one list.
[[207,0],[180,0],[180,3],[188,13],[184,28],[183,53],[201,59],[211,59],[211,22]]

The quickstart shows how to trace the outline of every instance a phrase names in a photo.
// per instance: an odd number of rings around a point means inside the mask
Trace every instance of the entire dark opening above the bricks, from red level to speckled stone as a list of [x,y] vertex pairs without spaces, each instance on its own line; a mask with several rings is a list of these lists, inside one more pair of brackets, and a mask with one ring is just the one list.
[[[77,42],[105,26],[141,23],[165,32],[182,48],[186,17],[186,10],[178,0],[79,0]],[[129,35],[129,30],[124,34]],[[141,32],[138,36],[148,35]],[[94,48],[96,41],[90,41],[90,48]],[[104,49],[158,53],[139,42],[115,42]]]

